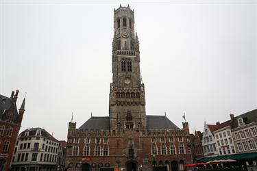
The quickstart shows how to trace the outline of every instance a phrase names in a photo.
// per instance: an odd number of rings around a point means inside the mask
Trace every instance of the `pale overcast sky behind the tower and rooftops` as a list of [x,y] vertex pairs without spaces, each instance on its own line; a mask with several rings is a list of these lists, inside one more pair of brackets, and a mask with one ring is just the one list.
[[[1,94],[27,92],[21,131],[66,140],[71,113],[108,116],[113,10],[127,1],[1,1]],[[256,109],[256,1],[130,2],[147,115],[191,132]]]

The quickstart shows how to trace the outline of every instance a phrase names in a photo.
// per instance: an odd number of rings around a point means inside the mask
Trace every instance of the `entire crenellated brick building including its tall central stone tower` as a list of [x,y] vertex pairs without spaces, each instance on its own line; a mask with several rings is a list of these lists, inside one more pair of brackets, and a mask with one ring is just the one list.
[[109,99],[109,116],[91,116],[78,129],[69,122],[66,164],[73,170],[176,171],[192,163],[188,122],[180,129],[166,116],[146,115],[139,42],[129,6],[114,9]]

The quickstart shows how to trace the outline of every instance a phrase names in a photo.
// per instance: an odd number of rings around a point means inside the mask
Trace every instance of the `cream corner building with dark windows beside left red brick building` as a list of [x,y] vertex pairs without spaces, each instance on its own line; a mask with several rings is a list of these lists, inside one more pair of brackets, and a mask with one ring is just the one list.
[[45,129],[26,129],[16,141],[12,170],[57,170],[58,153],[60,142]]

